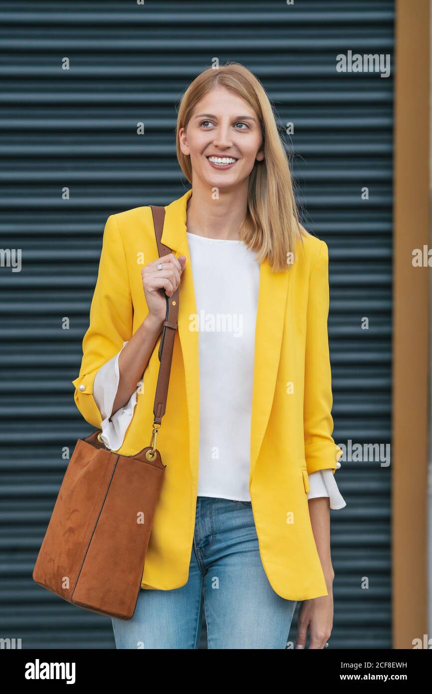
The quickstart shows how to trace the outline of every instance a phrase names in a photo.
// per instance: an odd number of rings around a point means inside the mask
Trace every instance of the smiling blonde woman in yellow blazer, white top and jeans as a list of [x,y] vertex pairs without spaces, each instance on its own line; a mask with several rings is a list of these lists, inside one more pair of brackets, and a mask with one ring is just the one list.
[[[297,219],[286,154],[261,83],[207,69],[178,113],[191,189],[166,207],[157,258],[151,210],[107,220],[74,380],[108,448],[148,445],[165,296],[180,285],[166,463],[132,620],[117,648],[324,648],[333,618],[334,472],[328,252]],[[144,288],[144,291],[143,291]],[[198,475],[199,468],[199,475]]]

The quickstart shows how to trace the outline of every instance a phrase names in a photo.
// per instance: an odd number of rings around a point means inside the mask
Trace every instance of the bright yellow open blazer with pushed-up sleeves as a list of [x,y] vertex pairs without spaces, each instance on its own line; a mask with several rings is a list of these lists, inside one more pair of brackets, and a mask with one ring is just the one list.
[[[191,193],[189,190],[165,208],[162,243],[175,255],[185,255],[187,264],[180,282],[166,414],[157,440],[166,464],[165,479],[143,589],[180,588],[189,576],[200,412],[198,332],[189,329],[189,316],[197,313],[186,227]],[[83,339],[83,361],[73,381],[76,405],[96,428],[101,427],[102,416],[92,396],[94,377],[144,321],[148,307],[141,269],[157,257],[149,207],[107,219],[89,328]],[[297,242],[291,270],[275,273],[267,261],[260,266],[249,489],[263,568],[275,592],[288,600],[327,595],[306,495],[308,475],[325,468],[335,472],[336,461],[343,455],[331,437],[328,262],[325,242],[307,236],[304,246]],[[150,442],[159,340],[119,448],[124,455],[134,455]]]

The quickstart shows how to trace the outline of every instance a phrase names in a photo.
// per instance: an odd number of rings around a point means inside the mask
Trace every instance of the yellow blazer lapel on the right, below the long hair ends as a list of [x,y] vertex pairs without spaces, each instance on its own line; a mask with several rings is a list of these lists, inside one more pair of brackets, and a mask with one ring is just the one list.
[[261,263],[255,327],[249,486],[273,404],[290,275],[289,270],[273,272],[266,260]]

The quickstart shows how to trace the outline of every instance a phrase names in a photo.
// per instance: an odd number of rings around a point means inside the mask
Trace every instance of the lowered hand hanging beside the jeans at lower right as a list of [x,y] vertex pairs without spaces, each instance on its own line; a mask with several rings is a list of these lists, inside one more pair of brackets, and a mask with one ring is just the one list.
[[328,595],[304,600],[300,606],[295,648],[304,648],[309,629],[309,648],[323,649],[333,627],[333,585],[327,584]]

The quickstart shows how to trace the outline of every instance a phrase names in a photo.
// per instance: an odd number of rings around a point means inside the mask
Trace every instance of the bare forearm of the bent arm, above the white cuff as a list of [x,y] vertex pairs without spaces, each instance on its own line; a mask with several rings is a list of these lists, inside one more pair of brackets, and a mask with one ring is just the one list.
[[112,414],[126,405],[133,391],[137,388],[137,383],[146,370],[162,327],[163,321],[158,321],[151,314],[148,314],[135,335],[121,350],[119,355],[119,387],[112,406]]

